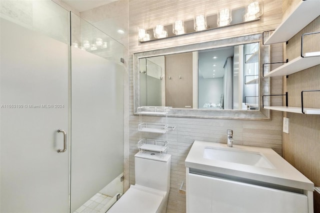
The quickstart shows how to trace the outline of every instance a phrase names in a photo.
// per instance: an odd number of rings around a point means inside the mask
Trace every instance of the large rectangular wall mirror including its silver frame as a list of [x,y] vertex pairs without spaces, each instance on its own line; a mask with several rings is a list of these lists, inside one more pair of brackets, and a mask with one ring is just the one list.
[[[269,118],[261,34],[134,53],[134,107],[171,106],[188,117]],[[266,69],[267,67],[264,67]]]

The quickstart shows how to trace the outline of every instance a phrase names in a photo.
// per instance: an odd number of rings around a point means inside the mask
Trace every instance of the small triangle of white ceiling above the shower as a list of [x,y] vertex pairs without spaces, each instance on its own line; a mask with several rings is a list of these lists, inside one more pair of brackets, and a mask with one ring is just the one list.
[[116,0],[61,0],[61,1],[68,4],[78,12],[83,12],[85,10],[93,9],[95,7],[108,4]]

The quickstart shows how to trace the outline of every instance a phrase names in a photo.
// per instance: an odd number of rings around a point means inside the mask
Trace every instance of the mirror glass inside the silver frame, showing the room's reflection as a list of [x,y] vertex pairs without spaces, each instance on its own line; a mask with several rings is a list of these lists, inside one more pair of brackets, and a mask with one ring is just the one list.
[[140,106],[258,109],[259,43],[139,58]]

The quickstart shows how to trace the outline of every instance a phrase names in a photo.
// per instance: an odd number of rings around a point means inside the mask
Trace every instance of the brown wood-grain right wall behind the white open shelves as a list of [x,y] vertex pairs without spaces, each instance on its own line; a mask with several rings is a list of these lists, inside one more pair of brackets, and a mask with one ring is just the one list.
[[[283,1],[285,14],[292,11],[298,1],[288,4]],[[320,9],[320,4],[319,4]],[[283,16],[286,17],[286,16]],[[285,57],[289,61],[300,55],[302,33],[319,32],[320,16],[311,21],[301,31],[289,39]],[[319,51],[320,35],[306,37],[304,51]],[[320,63],[320,62],[319,62]],[[301,70],[284,78],[283,90],[288,92],[289,106],[301,106],[300,92],[307,89],[320,89],[320,64]],[[304,107],[320,107],[319,92],[303,95]],[[320,186],[320,115],[283,113],[289,118],[289,133],[282,132],[283,157],[308,177],[315,186]],[[314,192],[314,212],[320,212],[320,194]]]

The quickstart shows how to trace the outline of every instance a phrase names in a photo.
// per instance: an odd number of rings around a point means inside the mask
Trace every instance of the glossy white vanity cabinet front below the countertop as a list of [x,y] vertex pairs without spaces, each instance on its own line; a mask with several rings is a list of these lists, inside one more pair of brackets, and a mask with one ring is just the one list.
[[189,213],[308,212],[304,194],[193,173],[186,178]]

